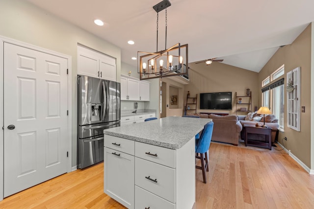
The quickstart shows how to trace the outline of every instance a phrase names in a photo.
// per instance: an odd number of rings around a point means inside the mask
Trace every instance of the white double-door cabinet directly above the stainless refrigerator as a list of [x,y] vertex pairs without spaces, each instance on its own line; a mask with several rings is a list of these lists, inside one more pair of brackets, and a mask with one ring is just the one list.
[[78,74],[116,81],[116,60],[92,49],[78,46]]

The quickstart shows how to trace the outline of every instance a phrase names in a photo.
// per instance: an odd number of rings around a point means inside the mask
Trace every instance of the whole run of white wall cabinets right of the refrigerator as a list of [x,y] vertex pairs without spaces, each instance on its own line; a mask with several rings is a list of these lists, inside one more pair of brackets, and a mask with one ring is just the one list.
[[150,82],[121,75],[121,100],[149,101]]

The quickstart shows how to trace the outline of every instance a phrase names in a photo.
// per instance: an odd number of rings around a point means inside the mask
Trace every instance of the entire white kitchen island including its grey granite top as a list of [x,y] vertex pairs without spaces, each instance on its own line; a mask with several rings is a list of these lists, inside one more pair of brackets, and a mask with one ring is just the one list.
[[104,192],[130,209],[191,209],[195,135],[209,121],[165,117],[105,129]]

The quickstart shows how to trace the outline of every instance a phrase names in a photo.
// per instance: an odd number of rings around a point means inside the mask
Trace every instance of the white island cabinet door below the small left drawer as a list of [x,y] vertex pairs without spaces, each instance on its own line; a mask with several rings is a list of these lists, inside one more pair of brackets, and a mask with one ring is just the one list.
[[104,192],[134,209],[134,156],[105,147]]

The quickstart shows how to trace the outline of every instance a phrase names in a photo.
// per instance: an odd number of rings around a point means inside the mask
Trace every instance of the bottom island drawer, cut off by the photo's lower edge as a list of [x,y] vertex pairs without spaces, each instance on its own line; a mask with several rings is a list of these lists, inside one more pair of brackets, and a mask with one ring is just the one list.
[[135,208],[136,209],[175,209],[175,205],[158,197],[157,195],[135,186]]

